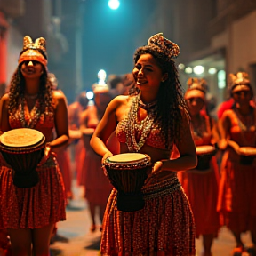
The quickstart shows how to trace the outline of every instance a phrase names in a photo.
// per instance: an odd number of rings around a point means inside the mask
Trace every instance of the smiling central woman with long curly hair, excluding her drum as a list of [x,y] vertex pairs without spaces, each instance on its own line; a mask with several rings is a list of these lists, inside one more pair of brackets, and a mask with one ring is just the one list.
[[[116,189],[112,190],[103,220],[101,255],[195,255],[193,216],[177,179],[177,172],[196,166],[188,110],[172,60],[179,52],[178,45],[162,33],[137,49],[132,95],[117,96],[109,103],[92,136],[92,148],[103,163],[112,156],[106,141],[116,129],[121,153],[148,154],[153,164],[142,188],[142,210],[118,211]],[[180,157],[170,160],[174,145]]]

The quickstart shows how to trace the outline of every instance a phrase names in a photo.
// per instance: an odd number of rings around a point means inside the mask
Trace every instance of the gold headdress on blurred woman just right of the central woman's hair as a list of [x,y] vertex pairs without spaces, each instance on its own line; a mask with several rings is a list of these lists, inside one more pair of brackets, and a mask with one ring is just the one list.
[[205,93],[207,92],[207,83],[204,78],[191,77],[187,81],[188,90],[185,93],[185,99],[198,97],[205,100]]

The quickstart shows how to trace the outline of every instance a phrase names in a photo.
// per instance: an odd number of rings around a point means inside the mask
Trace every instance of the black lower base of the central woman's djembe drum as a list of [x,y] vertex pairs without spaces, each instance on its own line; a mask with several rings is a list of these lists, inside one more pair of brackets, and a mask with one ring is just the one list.
[[117,191],[117,210],[122,212],[136,212],[144,208],[145,201],[143,194],[139,193],[124,193]]

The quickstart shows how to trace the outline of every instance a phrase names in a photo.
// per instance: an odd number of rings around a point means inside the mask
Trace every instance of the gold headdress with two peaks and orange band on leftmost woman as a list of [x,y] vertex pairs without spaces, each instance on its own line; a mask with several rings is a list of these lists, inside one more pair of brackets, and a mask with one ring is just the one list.
[[[38,51],[39,50],[39,51]],[[44,52],[42,54],[40,51]],[[19,65],[26,60],[36,60],[47,66],[47,54],[46,54],[46,41],[43,37],[37,38],[33,43],[30,36],[25,36],[23,39],[23,49],[20,53]]]

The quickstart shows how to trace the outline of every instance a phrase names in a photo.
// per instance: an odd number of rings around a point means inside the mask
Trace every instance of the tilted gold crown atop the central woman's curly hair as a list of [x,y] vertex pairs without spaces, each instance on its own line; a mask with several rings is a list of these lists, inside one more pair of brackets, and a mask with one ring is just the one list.
[[171,40],[165,38],[163,33],[158,33],[148,39],[148,46],[157,46],[157,52],[164,53],[169,58],[176,58],[180,53],[180,48]]

